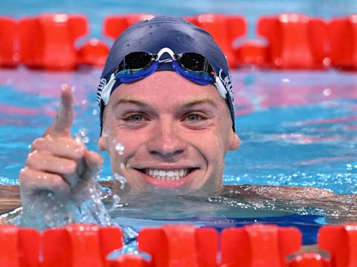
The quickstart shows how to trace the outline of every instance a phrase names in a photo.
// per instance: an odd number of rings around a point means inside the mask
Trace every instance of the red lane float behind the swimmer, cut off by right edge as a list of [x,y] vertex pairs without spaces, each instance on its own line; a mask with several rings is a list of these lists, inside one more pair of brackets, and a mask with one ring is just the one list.
[[331,66],[357,70],[357,15],[328,24]]

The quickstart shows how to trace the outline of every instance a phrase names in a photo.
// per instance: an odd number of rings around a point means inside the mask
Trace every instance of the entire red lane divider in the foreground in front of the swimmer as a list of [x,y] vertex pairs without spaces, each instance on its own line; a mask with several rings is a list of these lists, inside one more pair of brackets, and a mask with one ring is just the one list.
[[[68,225],[40,233],[0,225],[0,266],[6,267],[351,267],[357,266],[357,225],[324,226],[318,245],[331,254],[301,249],[294,227],[246,225],[218,234],[212,228],[165,225],[139,232],[139,254],[107,255],[123,246],[121,229]],[[220,249],[219,249],[220,248]],[[289,256],[292,253],[297,255]],[[289,257],[288,257],[289,256]],[[288,259],[291,258],[291,259]],[[220,262],[218,262],[220,261]]]

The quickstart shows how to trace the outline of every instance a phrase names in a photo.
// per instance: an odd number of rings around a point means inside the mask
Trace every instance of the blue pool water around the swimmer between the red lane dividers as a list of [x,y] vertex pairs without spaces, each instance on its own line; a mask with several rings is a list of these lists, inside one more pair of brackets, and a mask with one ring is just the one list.
[[[17,184],[29,145],[52,122],[61,83],[75,90],[73,134],[98,151],[96,86],[100,70],[43,72],[19,67],[0,72],[0,183]],[[236,129],[242,145],[229,152],[224,184],[314,186],[337,194],[357,193],[357,76],[353,72],[234,70]],[[98,179],[112,180],[109,158]],[[342,202],[299,202],[237,197],[232,187],[219,196],[122,198],[109,212],[116,223],[143,227],[192,223],[218,229],[245,223],[278,223],[303,230],[314,243],[319,226],[357,218],[353,197]],[[324,207],[321,209],[319,207]]]

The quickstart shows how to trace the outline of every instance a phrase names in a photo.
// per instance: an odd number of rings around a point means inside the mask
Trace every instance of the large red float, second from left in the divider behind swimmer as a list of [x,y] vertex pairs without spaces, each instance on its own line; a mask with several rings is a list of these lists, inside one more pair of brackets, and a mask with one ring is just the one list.
[[19,22],[21,63],[46,70],[73,70],[77,67],[75,41],[86,35],[83,15],[45,14]]

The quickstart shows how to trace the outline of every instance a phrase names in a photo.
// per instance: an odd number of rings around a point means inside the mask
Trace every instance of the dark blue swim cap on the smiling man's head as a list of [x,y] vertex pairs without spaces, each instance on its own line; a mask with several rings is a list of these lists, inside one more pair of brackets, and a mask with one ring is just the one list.
[[[222,81],[226,90],[225,100],[231,112],[234,128],[234,94],[231,85],[231,75],[227,58],[212,36],[203,29],[181,18],[158,16],[132,24],[119,35],[109,51],[107,62],[100,79],[97,92],[97,101],[100,108],[100,127],[105,104],[121,82],[114,79],[114,72],[123,58],[130,53],[143,51],[149,54],[158,54],[162,48],[168,47],[175,54],[197,53],[204,56]],[[168,64],[165,64],[168,65]],[[170,67],[159,67],[159,70],[173,70]],[[103,101],[103,97],[107,101]],[[105,103],[106,102],[106,103]]]

